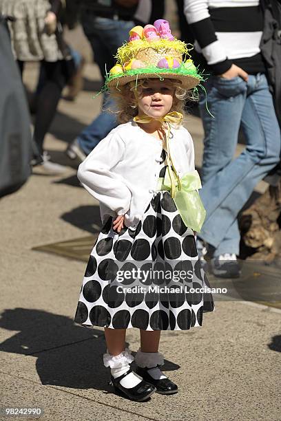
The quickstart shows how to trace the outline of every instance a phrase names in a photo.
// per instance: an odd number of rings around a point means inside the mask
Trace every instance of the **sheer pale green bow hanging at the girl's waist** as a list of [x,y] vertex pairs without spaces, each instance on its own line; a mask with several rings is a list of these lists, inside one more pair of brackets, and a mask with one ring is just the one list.
[[[174,177],[173,182],[171,182],[171,177]],[[185,226],[199,233],[205,221],[206,210],[197,191],[202,188],[198,171],[186,173],[180,179],[174,175],[174,171],[171,173],[166,171],[165,177],[158,178],[157,190],[171,191],[173,184],[175,186],[173,198],[178,213]]]

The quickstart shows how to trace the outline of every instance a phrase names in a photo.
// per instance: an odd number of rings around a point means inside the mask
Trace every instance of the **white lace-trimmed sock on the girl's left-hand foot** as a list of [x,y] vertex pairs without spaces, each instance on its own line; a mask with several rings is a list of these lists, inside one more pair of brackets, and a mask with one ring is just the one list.
[[[134,361],[134,357],[131,355],[131,351],[128,348],[121,354],[112,356],[111,354],[103,354],[103,363],[105,367],[110,367],[111,374],[114,378],[122,376],[126,371],[129,370],[129,364]],[[126,389],[131,389],[132,387],[141,383],[142,378],[136,373],[129,373],[125,376],[120,384]]]

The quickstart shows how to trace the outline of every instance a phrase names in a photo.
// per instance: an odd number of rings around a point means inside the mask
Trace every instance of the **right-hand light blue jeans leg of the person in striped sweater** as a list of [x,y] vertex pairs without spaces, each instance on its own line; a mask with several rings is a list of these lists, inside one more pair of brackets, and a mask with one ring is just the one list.
[[[239,253],[237,215],[256,184],[280,160],[280,128],[264,75],[249,76],[241,124],[246,148],[236,160],[212,176],[202,192],[202,201],[207,203],[207,219],[200,237],[214,246],[215,259],[218,253]],[[217,276],[223,273],[218,272]]]

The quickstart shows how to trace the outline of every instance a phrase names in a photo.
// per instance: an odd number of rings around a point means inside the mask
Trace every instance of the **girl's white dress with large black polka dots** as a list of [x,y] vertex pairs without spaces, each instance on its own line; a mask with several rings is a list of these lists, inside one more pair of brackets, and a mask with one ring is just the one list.
[[[159,177],[165,176],[162,151]],[[129,290],[131,288],[131,290]],[[214,310],[194,232],[168,191],[158,191],[136,230],[98,235],[85,271],[74,321],[87,327],[188,330]],[[133,292],[134,291],[134,292]]]

